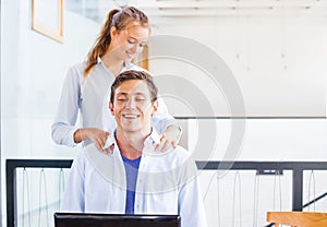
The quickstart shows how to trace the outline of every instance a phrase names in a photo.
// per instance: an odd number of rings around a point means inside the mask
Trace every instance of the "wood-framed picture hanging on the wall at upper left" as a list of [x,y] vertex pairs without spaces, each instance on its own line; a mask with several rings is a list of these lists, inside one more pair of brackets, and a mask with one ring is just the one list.
[[63,0],[32,0],[32,29],[63,43]]

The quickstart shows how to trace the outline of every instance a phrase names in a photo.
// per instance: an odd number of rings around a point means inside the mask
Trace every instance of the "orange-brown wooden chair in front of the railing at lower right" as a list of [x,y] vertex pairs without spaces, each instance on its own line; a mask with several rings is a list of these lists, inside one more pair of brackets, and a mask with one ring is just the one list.
[[319,212],[268,212],[267,222],[293,227],[327,227],[327,213]]

